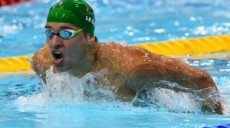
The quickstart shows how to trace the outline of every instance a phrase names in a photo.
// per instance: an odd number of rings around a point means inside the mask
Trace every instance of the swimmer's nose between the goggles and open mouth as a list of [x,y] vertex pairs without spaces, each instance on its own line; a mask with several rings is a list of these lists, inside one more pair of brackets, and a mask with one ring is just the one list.
[[51,46],[51,48],[53,49],[60,49],[61,47],[63,47],[63,40],[57,36],[54,35],[53,38],[48,39],[47,43]]

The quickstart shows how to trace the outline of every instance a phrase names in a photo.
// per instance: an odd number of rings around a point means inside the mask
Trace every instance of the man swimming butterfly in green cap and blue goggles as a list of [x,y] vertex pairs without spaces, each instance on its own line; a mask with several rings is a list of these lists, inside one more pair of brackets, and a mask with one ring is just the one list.
[[[51,66],[54,73],[68,72],[76,77],[107,69],[109,88],[128,100],[145,87],[180,91],[161,84],[162,81],[192,90],[213,89],[201,97],[208,98],[213,91],[218,93],[207,72],[180,59],[116,42],[99,43],[94,25],[93,9],[83,0],[61,0],[50,8],[45,25],[46,43],[32,60],[33,70],[44,82]],[[103,85],[104,81],[98,82]],[[221,102],[212,99],[204,101],[201,110],[223,114]]]

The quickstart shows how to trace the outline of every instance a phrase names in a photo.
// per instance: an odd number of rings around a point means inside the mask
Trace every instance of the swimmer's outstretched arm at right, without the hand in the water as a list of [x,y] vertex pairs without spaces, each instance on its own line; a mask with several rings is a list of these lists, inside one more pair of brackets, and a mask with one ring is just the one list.
[[[174,62],[173,62],[174,61]],[[204,89],[213,87],[217,90],[211,76],[200,69],[189,66],[182,61],[171,60],[170,63],[142,64],[129,70],[128,86],[133,91],[138,91],[145,86],[171,88],[167,84],[159,84],[163,81],[176,83],[181,87],[190,89]]]

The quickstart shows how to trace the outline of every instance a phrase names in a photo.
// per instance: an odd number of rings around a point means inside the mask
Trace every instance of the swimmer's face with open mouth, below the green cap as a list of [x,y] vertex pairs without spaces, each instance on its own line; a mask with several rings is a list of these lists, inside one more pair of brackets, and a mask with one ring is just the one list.
[[[80,28],[71,24],[56,22],[48,22],[45,28],[55,33],[55,35],[51,37],[46,37],[54,67],[59,72],[71,72],[79,67],[86,55],[85,44],[88,41],[86,34],[84,34],[83,31],[79,31],[75,36],[69,39],[63,39],[60,35],[61,30],[70,30],[69,32],[72,32]],[[68,33],[66,34],[68,37]]]

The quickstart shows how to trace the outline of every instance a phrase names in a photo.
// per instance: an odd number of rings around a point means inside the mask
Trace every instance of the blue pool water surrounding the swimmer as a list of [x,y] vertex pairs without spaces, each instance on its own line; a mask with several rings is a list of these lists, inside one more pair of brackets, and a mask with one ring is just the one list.
[[[176,38],[229,34],[229,0],[88,0],[95,9],[96,35],[100,41],[129,44]],[[0,8],[0,57],[34,53],[44,43],[44,25],[50,0],[34,1]],[[114,98],[109,90],[91,89],[102,97],[85,98],[86,79],[66,74],[50,78],[43,86],[30,74],[0,75],[0,128],[72,127],[170,127],[194,128],[230,123],[230,60],[190,60],[215,80],[223,100],[225,115],[199,112],[196,101],[186,94],[168,90],[161,108],[133,107]],[[59,78],[65,79],[59,79]],[[77,87],[60,91],[60,81]],[[52,88],[57,87],[57,90]],[[55,95],[51,98],[49,94]],[[191,109],[194,113],[183,113]],[[171,112],[174,111],[174,112]]]

